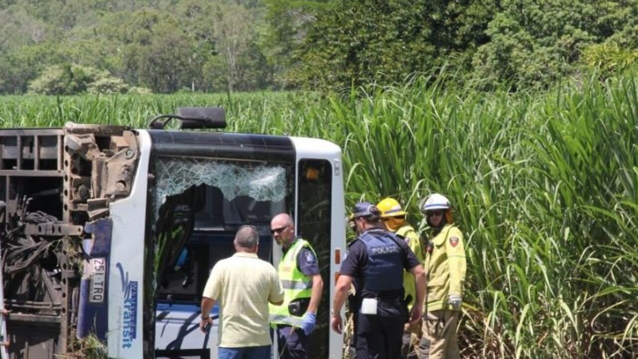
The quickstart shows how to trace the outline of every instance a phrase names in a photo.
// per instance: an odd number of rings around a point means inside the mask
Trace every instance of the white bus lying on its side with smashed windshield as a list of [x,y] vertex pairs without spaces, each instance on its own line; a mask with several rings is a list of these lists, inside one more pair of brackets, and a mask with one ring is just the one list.
[[[270,220],[281,212],[313,244],[326,283],[312,356],[341,358],[341,335],[329,330],[345,249],[341,150],[185,130],[220,128],[223,116],[181,108],[151,129],[0,130],[0,345],[10,358],[68,355],[87,342],[109,358],[216,358],[217,328],[198,330],[209,271],[234,253],[244,224],[258,228],[260,258],[278,263]],[[182,129],[163,128],[173,118]]]

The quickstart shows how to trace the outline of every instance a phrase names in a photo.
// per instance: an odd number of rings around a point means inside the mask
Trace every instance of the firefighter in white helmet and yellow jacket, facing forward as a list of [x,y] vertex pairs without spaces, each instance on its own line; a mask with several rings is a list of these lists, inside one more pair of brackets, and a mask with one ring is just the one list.
[[426,247],[427,295],[419,358],[460,358],[456,327],[466,270],[463,234],[454,226],[445,196],[431,194],[419,209],[433,230]]

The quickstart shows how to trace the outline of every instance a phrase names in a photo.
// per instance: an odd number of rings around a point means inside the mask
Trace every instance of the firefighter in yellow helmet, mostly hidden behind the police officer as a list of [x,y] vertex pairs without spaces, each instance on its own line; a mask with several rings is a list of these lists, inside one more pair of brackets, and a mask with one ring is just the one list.
[[[424,263],[421,240],[414,228],[406,221],[407,213],[403,210],[403,207],[401,207],[401,203],[394,200],[394,198],[385,198],[385,200],[380,201],[376,207],[381,210],[381,218],[383,219],[385,229],[405,240],[408,247],[412,249],[412,252],[417,257],[417,260],[419,260],[419,263]],[[417,297],[414,277],[410,272],[403,272],[403,288],[405,289],[406,304],[408,305],[408,310],[410,310]],[[408,358],[408,354],[412,351],[412,343],[420,340],[422,323],[422,321],[419,321],[416,325],[405,325],[403,341],[401,343],[401,358]],[[410,355],[410,357],[413,357],[413,355]]]

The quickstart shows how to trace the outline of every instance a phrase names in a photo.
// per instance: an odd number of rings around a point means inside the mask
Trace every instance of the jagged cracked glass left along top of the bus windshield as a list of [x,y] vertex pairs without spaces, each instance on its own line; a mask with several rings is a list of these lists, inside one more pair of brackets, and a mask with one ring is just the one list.
[[[221,191],[224,203],[283,203],[289,192],[285,165],[199,158],[158,158],[155,162],[154,219],[168,196],[192,186]],[[210,192],[210,190],[208,191]],[[235,205],[236,207],[236,205]]]

